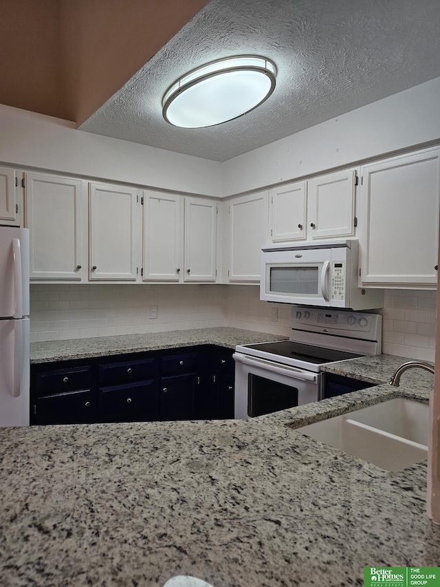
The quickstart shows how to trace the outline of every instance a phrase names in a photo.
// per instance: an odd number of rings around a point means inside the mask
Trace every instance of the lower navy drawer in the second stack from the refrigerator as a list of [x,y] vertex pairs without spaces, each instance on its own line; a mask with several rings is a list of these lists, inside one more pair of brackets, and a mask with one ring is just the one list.
[[135,422],[157,419],[157,380],[98,389],[100,422]]

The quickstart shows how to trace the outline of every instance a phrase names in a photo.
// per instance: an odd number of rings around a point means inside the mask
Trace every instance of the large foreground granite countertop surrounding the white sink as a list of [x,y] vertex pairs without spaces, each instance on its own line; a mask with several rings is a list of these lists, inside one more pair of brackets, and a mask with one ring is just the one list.
[[0,429],[1,585],[342,587],[364,566],[437,566],[426,462],[391,473],[294,429],[428,401],[428,372],[383,383],[404,361],[334,363],[379,385],[252,420]]

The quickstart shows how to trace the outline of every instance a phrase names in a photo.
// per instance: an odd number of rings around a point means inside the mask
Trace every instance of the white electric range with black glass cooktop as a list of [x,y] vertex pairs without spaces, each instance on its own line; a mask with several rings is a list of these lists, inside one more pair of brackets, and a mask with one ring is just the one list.
[[380,314],[296,307],[288,341],[236,346],[235,418],[318,401],[323,365],[381,352]]

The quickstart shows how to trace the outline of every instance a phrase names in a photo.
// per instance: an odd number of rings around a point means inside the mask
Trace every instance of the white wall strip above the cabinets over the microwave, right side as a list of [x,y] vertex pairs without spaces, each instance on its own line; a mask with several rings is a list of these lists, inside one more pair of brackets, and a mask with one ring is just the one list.
[[255,149],[222,165],[223,196],[440,139],[440,78]]

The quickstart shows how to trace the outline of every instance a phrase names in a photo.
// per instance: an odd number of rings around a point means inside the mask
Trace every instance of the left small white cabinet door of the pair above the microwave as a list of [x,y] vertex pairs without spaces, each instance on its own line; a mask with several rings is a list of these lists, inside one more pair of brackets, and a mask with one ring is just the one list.
[[287,184],[269,191],[270,242],[305,238],[306,195],[306,182]]

